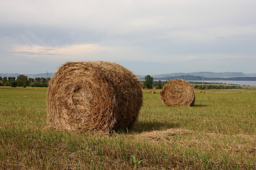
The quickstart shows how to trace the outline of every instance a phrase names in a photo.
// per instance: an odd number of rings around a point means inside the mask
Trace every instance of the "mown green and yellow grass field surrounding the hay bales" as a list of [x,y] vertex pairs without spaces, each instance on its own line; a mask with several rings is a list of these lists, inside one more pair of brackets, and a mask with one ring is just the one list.
[[195,107],[144,90],[134,129],[108,135],[44,130],[46,92],[0,87],[0,169],[256,169],[256,90],[195,90]]

